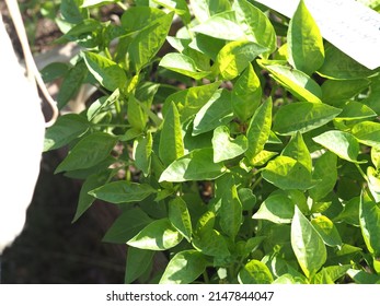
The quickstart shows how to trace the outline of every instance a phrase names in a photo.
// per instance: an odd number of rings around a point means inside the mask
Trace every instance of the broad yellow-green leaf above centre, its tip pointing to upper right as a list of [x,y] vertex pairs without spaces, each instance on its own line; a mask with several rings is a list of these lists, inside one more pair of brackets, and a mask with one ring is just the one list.
[[214,96],[221,82],[215,82],[207,85],[189,87],[168,96],[163,104],[163,115],[168,111],[171,103],[174,102],[179,109],[181,121],[186,121]]

